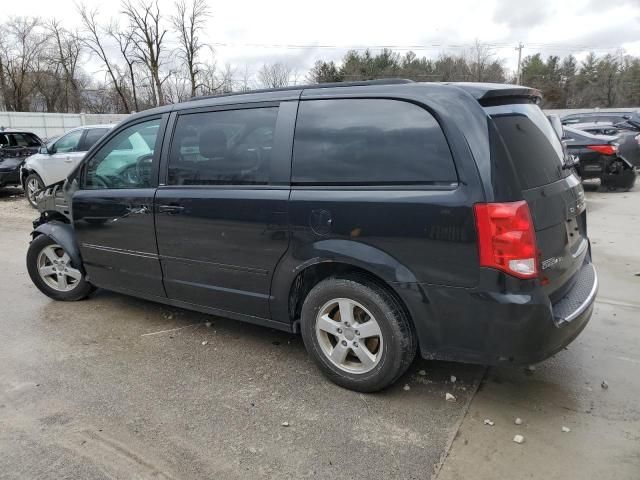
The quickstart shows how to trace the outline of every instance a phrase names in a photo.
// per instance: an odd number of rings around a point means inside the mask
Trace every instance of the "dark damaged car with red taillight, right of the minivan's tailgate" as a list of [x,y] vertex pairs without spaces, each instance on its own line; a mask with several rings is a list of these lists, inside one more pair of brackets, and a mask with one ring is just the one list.
[[625,136],[592,135],[582,130],[564,127],[563,141],[567,152],[578,158],[575,168],[583,179],[599,178],[608,189],[630,189],[636,181],[634,165],[623,154],[622,142],[635,139]]

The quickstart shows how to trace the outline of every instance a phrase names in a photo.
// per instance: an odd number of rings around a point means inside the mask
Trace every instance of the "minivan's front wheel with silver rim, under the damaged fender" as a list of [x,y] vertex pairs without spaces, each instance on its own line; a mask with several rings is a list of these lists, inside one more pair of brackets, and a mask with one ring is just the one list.
[[29,245],[27,270],[38,290],[54,300],[82,300],[92,291],[84,274],[71,264],[69,254],[46,235]]

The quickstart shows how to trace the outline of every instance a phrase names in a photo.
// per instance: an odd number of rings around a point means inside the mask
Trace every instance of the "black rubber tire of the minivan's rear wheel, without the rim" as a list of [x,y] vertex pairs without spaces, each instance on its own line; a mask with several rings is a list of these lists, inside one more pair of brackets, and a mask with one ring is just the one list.
[[[316,322],[320,309],[334,299],[358,302],[374,317],[382,332],[382,352],[376,366],[365,373],[338,368],[324,353]],[[334,383],[358,392],[376,392],[392,385],[411,365],[417,350],[411,321],[399,301],[366,276],[328,278],[318,283],[302,306],[302,338],[307,352]]]

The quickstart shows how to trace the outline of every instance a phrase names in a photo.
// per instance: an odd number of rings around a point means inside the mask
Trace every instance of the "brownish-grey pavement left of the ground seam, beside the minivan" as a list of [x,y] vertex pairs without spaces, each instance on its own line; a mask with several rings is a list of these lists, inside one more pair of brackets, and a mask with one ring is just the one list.
[[482,367],[416,361],[362,395],[294,335],[105,291],[51,301],[25,271],[36,213],[18,193],[0,196],[0,478],[433,474]]

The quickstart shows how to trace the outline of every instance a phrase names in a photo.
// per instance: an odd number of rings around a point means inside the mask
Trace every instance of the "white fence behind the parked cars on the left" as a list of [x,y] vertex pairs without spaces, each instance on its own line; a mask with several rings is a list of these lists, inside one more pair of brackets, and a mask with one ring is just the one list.
[[27,130],[44,139],[82,125],[118,123],[127,117],[118,114],[0,112],[0,127]]

